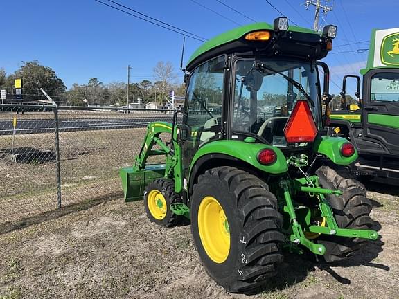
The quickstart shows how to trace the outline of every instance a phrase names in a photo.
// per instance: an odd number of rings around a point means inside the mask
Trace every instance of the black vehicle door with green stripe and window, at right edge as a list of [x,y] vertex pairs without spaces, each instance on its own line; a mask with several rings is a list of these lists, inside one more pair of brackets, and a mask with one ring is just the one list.
[[360,153],[399,155],[399,69],[364,76],[363,140]]

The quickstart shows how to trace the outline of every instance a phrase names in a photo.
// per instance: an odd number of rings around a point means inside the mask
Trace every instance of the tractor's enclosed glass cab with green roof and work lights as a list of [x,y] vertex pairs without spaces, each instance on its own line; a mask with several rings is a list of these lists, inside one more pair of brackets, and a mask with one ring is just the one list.
[[[273,26],[243,26],[201,46],[186,69],[180,127],[184,169],[200,147],[215,140],[264,143],[282,150],[311,147],[323,127],[317,61],[331,50],[335,30],[327,26],[320,35],[289,27],[286,18],[278,18]],[[295,115],[304,121],[287,126],[299,102],[304,110]],[[290,142],[289,127],[290,134],[296,132]]]

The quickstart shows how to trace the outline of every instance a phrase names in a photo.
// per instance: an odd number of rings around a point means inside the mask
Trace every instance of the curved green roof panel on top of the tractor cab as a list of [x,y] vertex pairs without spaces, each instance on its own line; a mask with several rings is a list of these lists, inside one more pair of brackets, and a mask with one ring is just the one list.
[[[213,48],[222,46],[223,44],[227,44],[229,42],[233,42],[234,40],[239,39],[240,37],[246,35],[247,33],[250,33],[252,31],[256,31],[256,30],[273,30],[273,25],[267,24],[267,23],[249,24],[249,25],[241,26],[241,27],[235,28],[233,30],[227,31],[220,35],[217,35],[216,37],[209,39],[208,42],[202,44],[202,46],[197,48],[197,51],[195,51],[193,53],[193,55],[191,55],[190,59],[188,60],[187,65],[189,65],[191,62],[193,62],[193,60],[195,60],[195,58],[212,50]],[[310,34],[314,34],[314,35],[319,35],[319,33],[316,33],[313,30],[310,30],[307,28],[302,28],[302,27],[296,27],[296,26],[290,26],[290,28],[288,28],[288,30],[293,31],[293,32],[299,32],[299,33],[310,33]]]

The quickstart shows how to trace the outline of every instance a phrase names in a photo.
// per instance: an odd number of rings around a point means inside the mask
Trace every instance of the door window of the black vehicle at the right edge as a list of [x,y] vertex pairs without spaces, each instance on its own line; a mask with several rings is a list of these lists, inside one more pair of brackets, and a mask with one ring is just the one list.
[[399,102],[399,73],[378,73],[371,79],[371,100]]

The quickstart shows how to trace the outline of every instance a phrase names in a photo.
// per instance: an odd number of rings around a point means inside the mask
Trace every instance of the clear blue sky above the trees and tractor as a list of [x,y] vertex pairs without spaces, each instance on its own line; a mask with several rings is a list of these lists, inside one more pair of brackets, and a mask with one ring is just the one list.
[[[206,38],[235,28],[236,23],[251,23],[217,0],[116,1]],[[256,21],[272,22],[279,16],[265,0],[222,1]],[[296,24],[312,26],[314,8],[305,10],[305,0],[269,2]],[[368,41],[372,28],[398,27],[398,8],[398,1],[334,1],[333,11],[323,16],[326,24],[338,26],[334,50],[325,60],[332,69],[333,82],[340,86],[342,75],[357,73],[366,64],[367,52],[341,52],[368,48],[368,43],[343,45]],[[153,80],[154,65],[170,61],[182,77],[181,35],[94,0],[1,0],[0,11],[0,67],[8,73],[15,71],[21,61],[39,60],[53,68],[69,88],[75,82],[85,84],[92,77],[101,82],[127,81],[127,64],[132,66],[132,82]],[[186,39],[185,62],[200,45],[195,39]],[[338,92],[334,84],[331,89]]]

